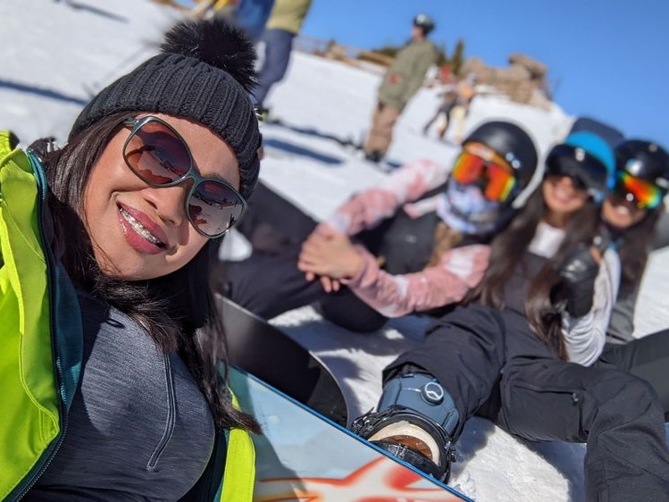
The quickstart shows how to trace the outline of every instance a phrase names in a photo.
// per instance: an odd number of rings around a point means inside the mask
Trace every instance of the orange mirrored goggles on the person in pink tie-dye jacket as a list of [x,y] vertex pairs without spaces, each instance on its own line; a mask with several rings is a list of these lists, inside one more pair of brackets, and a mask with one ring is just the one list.
[[483,195],[495,202],[506,201],[516,184],[511,167],[494,160],[487,161],[466,150],[457,157],[451,177],[462,185],[481,183]]

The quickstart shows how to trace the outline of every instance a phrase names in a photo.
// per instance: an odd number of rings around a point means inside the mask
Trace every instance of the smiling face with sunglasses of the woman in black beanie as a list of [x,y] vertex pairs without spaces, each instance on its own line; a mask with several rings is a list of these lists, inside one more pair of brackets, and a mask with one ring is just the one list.
[[180,269],[238,221],[245,202],[233,185],[237,158],[212,130],[169,115],[122,121],[84,197],[97,263],[130,280]]

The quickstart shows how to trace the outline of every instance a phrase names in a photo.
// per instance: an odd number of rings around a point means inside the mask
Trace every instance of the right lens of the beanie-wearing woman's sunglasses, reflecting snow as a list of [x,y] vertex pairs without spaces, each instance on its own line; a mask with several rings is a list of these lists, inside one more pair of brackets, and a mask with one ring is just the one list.
[[188,199],[191,222],[210,237],[220,235],[234,226],[243,211],[241,196],[217,181],[203,181]]

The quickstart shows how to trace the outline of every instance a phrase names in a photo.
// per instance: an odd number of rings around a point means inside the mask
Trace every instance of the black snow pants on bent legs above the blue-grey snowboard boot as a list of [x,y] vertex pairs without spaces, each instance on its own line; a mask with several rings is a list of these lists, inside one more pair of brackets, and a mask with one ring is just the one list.
[[532,441],[587,442],[589,500],[669,499],[669,450],[654,390],[629,372],[565,363],[523,315],[458,307],[390,364],[384,379],[404,366],[430,372],[448,390],[462,417],[456,435],[498,392],[487,414],[506,431]]

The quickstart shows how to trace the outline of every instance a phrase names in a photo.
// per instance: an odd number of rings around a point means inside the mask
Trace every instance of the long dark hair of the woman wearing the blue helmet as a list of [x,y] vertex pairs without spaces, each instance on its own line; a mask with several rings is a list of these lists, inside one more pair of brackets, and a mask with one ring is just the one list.
[[[479,301],[496,309],[505,306],[506,281],[511,278],[516,267],[522,264],[523,255],[530,246],[539,222],[547,212],[541,186],[534,190],[520,213],[514,216],[509,226],[494,238],[490,244],[490,261],[483,280],[472,289],[466,303]],[[581,209],[572,215],[564,228],[564,240],[530,280],[525,298],[525,315],[531,330],[542,339],[561,359],[567,358],[562,337],[562,316],[557,305],[551,301],[551,291],[560,277],[556,273],[557,264],[573,252],[581,243],[590,245],[598,226],[598,206],[589,199]]]

